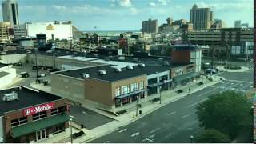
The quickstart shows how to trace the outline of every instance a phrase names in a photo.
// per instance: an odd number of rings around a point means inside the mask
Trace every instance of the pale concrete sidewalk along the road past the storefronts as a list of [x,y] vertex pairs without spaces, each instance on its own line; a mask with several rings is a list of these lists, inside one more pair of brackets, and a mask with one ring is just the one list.
[[[113,118],[115,120],[112,122],[108,122],[105,125],[98,126],[92,130],[87,130],[85,128],[82,129],[82,131],[84,131],[86,135],[80,138],[74,139],[74,142],[75,143],[89,142],[91,140],[94,140],[95,138],[99,138],[105,134],[109,134],[114,130],[118,130],[118,128],[122,126],[126,126],[131,122],[134,122],[139,118],[146,116],[146,114],[150,114],[154,110],[158,110],[160,107],[165,106],[170,102],[174,102],[174,101],[177,101],[178,99],[186,97],[189,94],[189,88],[191,89],[190,91],[190,94],[191,94],[191,93],[197,92],[198,90],[202,90],[208,86],[212,86],[221,81],[220,80],[221,77],[214,76],[212,78],[213,78],[213,82],[210,82],[208,79],[203,78],[203,82],[204,82],[203,87],[198,85],[198,82],[201,82],[201,78],[199,78],[198,81],[190,82],[186,86],[178,86],[173,90],[162,91],[162,98],[161,98],[162,104],[159,104],[159,101],[154,103],[149,101],[150,99],[158,98],[159,94],[154,94],[152,96],[149,96],[148,98],[139,100],[138,103],[142,105],[142,107],[139,108],[139,110],[142,110],[142,115],[138,114],[138,117],[136,117],[136,102],[133,102],[130,104],[133,106],[127,106],[131,108],[128,110],[126,114],[122,114],[117,117],[117,116],[114,116],[114,114],[110,114],[105,111],[98,110],[98,108],[92,102],[85,100],[84,102],[82,102],[82,106],[86,107],[87,109],[93,110],[99,114],[105,115],[106,117]],[[50,92],[50,88],[49,88],[50,86],[42,86],[42,84],[38,85],[35,83],[32,83],[31,86],[39,90],[46,90],[47,92]],[[181,94],[178,94],[176,92],[179,89],[183,90]],[[122,109],[126,109],[126,106],[123,106]],[[70,142],[70,139],[68,137],[70,137],[70,134],[68,134],[68,132],[65,132],[65,134],[62,135],[62,137],[60,138],[54,137],[47,142]]]

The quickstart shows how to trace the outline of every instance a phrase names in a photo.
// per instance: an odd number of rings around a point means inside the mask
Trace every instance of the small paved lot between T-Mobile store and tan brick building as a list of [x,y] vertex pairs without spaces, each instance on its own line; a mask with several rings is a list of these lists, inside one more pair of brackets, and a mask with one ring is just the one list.
[[74,122],[83,125],[84,128],[91,130],[95,127],[102,126],[114,119],[98,114],[81,106],[71,106],[70,115],[74,116]]

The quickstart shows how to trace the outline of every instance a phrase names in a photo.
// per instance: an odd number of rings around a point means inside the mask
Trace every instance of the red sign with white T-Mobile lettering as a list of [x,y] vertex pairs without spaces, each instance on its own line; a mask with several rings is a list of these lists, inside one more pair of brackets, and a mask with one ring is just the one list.
[[26,108],[23,110],[23,115],[27,116],[27,115],[37,114],[39,112],[50,110],[53,108],[54,108],[54,102],[50,102],[43,105]]

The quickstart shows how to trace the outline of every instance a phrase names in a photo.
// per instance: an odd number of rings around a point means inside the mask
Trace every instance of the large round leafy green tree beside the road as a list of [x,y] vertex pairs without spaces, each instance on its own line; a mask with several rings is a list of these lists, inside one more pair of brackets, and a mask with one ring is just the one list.
[[214,94],[197,107],[199,126],[219,130],[234,140],[250,130],[248,127],[253,122],[251,106],[245,95],[231,90]]

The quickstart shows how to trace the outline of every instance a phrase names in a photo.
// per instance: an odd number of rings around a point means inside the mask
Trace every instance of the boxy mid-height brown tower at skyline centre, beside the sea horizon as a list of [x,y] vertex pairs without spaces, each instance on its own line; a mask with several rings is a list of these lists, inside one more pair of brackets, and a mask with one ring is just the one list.
[[158,20],[142,21],[143,33],[158,33]]

